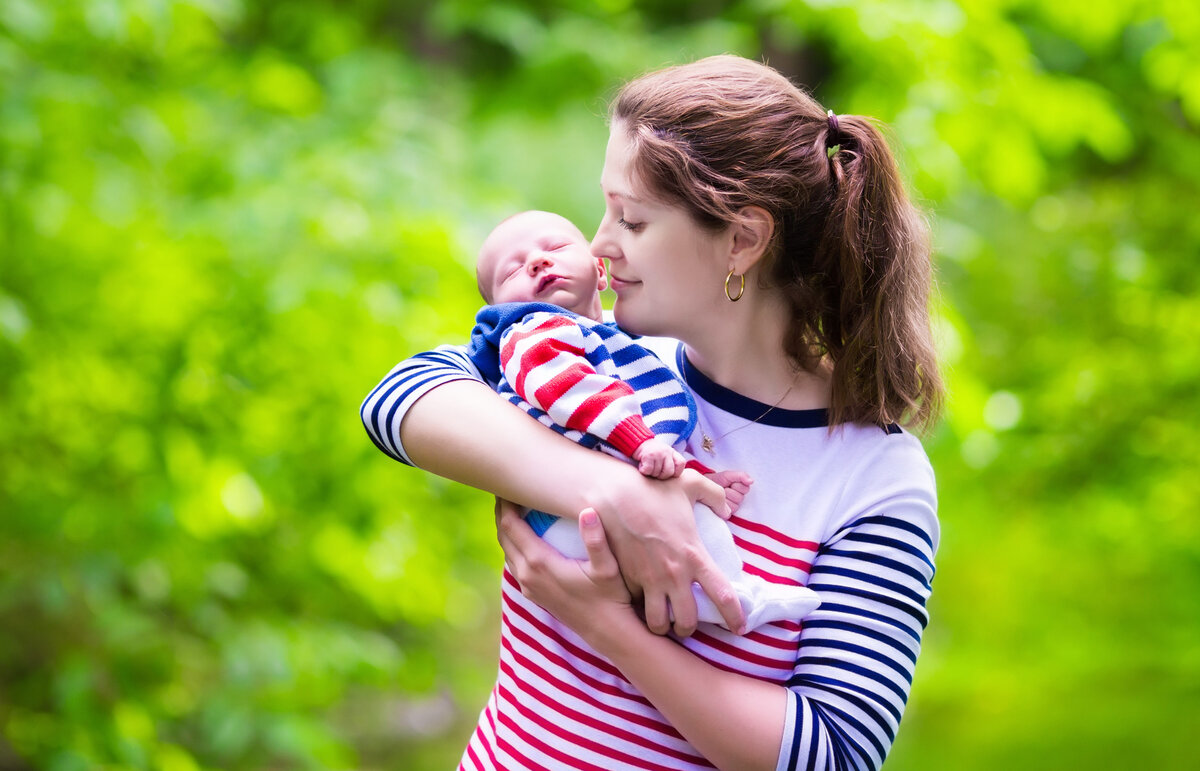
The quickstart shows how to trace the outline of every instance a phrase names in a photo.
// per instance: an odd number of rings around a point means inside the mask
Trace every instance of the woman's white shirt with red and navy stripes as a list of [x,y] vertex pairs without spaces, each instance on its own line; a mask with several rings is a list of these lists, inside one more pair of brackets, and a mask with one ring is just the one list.
[[[755,477],[730,522],[745,569],[806,585],[822,600],[803,624],[768,623],[744,636],[702,624],[680,644],[714,667],[787,689],[779,769],[877,769],[895,739],[928,622],[938,526],[920,443],[892,428],[830,432],[822,410],[762,416],[768,405],[706,378],[678,343],[640,343],[673,363],[692,389],[700,428],[722,437],[712,464]],[[367,434],[409,462],[400,442],[404,411],[461,378],[482,379],[461,347],[401,363],[362,402]],[[700,431],[692,436],[695,453]],[[499,673],[461,767],[712,765],[610,662],[522,597],[505,570]]]

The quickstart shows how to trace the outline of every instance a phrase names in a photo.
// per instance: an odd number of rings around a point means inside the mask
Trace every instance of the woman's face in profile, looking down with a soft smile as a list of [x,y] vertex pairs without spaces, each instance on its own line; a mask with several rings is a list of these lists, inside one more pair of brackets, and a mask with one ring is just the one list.
[[714,306],[726,303],[731,237],[713,234],[679,205],[650,198],[630,173],[626,127],[613,124],[600,187],[605,215],[592,253],[608,259],[613,313],[637,335],[701,339]]

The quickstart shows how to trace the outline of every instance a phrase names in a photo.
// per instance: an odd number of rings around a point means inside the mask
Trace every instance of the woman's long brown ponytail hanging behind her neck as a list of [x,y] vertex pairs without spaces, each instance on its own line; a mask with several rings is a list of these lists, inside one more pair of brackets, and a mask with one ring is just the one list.
[[802,279],[803,294],[815,300],[805,305],[818,312],[793,324],[788,353],[803,360],[815,341],[833,361],[830,425],[928,429],[943,393],[929,323],[928,227],[868,119],[830,114],[818,143],[828,208],[812,234],[812,270]]

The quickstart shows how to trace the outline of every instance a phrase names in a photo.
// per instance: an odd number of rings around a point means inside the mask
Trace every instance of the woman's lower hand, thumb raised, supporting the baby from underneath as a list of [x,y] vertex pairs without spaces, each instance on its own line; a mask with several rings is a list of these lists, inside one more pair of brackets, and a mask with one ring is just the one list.
[[629,590],[594,509],[580,513],[580,536],[588,551],[586,561],[558,554],[533,532],[515,503],[500,498],[496,498],[496,533],[521,593],[583,639],[635,617]]

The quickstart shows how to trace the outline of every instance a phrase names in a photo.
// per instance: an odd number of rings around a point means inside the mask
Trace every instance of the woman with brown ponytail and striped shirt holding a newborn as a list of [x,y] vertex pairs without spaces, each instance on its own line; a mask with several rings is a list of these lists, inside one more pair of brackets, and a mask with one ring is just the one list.
[[932,472],[896,425],[931,422],[941,383],[925,232],[895,162],[864,119],[716,56],[622,90],[601,187],[592,247],[617,321],[666,337],[646,342],[696,395],[689,452],[755,477],[730,522],[746,569],[822,605],[803,624],[697,629],[694,580],[739,621],[691,525],[710,490],[546,431],[457,349],[415,357],[364,402],[379,447],[578,516],[590,557],[558,557],[498,504],[500,673],[463,766],[877,767],[937,543]]

